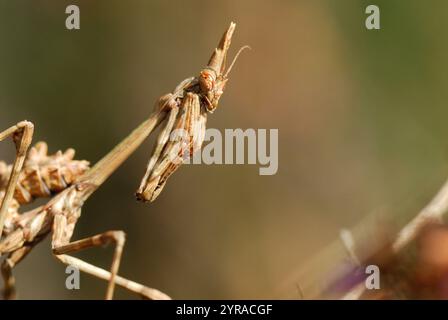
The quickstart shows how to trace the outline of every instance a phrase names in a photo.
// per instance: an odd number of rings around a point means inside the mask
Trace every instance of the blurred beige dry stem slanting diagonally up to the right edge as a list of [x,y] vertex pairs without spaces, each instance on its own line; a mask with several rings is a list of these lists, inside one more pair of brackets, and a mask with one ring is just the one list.
[[[414,240],[422,228],[428,223],[441,221],[443,215],[448,211],[448,180],[445,181],[442,188],[435,197],[419,212],[419,214],[405,225],[398,233],[395,241],[392,243],[392,251],[398,253],[407,244]],[[346,295],[343,300],[359,299],[365,291],[365,285],[355,286]]]

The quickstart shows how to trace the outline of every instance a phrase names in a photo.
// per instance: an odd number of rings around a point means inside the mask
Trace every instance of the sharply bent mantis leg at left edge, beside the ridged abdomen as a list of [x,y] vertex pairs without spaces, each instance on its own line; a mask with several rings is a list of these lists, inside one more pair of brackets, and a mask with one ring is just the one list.
[[34,125],[31,122],[22,121],[0,133],[0,141],[12,136],[16,145],[16,160],[14,161],[11,176],[6,187],[6,193],[0,207],[0,239],[2,237],[6,214],[13,199],[23,163],[25,162],[26,153],[33,139],[33,132]]

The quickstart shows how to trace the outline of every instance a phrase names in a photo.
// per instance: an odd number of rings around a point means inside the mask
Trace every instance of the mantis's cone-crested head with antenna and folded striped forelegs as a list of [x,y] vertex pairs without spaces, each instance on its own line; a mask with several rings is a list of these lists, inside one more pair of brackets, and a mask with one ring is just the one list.
[[138,200],[154,201],[174,171],[201,149],[207,114],[218,107],[233,64],[241,51],[248,48],[242,47],[226,70],[234,30],[235,23],[231,23],[199,76],[182,81],[173,93],[162,96],[156,103],[156,108],[168,115],[136,192]]

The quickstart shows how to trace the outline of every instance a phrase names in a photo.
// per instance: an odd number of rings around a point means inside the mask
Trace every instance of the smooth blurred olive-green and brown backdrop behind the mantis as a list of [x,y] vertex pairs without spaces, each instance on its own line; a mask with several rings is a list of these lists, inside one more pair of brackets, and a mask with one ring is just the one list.
[[[69,4],[78,31],[65,28]],[[364,26],[368,4],[380,31]],[[152,138],[85,204],[74,239],[123,229],[120,274],[174,298],[275,298],[341,228],[376,210],[400,226],[446,178],[446,12],[442,0],[0,0],[0,128],[33,121],[34,141],[94,163],[235,21],[231,55],[253,50],[208,126],[278,128],[278,173],[184,166],[155,203],[137,203]],[[0,158],[13,153],[0,144]],[[111,255],[77,256],[108,268]],[[66,290],[64,270],[47,239],[15,270],[20,298],[103,297],[88,275]]]

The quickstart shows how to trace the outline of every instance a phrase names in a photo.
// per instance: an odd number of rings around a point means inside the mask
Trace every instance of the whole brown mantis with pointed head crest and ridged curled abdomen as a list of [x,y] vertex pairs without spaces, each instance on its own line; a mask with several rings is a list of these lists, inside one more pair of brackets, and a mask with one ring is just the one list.
[[[16,146],[16,159],[7,170],[8,182],[3,183],[3,190],[0,188],[2,192],[0,200],[3,198],[0,207],[0,255],[7,254],[1,267],[5,298],[15,296],[15,279],[12,275],[14,266],[52,232],[52,251],[55,257],[64,264],[108,281],[106,299],[112,299],[115,285],[145,298],[169,299],[166,294],[156,289],[118,276],[125,243],[123,231],[106,231],[77,241],[71,241],[71,237],[81,215],[83,203],[162,121],[167,119],[137,192],[139,199],[154,200],[162,190],[166,179],[182,163],[185,147],[189,154],[201,147],[205,132],[204,112],[213,111],[217,107],[227,82],[228,72],[233,65],[232,63],[229,70],[224,73],[226,55],[234,29],[235,24],[231,23],[212,54],[208,67],[199,77],[184,80],[172,94],[160,98],[153,114],[89,170],[86,162],[72,160],[74,155],[72,150],[64,154],[57,153],[51,158],[52,156],[46,155],[46,145],[38,144],[27,152],[33,136],[33,125],[30,122],[20,122],[0,133],[0,141],[12,137]],[[192,134],[190,142],[185,145],[177,138],[168,141],[173,128],[185,129]],[[56,164],[54,161],[49,161],[53,169],[44,170],[48,161],[30,160],[36,155],[56,161]],[[62,162],[69,169],[61,167],[61,159],[65,159]],[[42,173],[44,171],[45,174]],[[27,175],[26,172],[34,173]],[[33,196],[56,194],[47,204],[25,213],[18,213],[18,199],[21,194],[26,195],[26,192],[29,201]],[[68,255],[111,243],[115,244],[115,251],[110,271]]]

